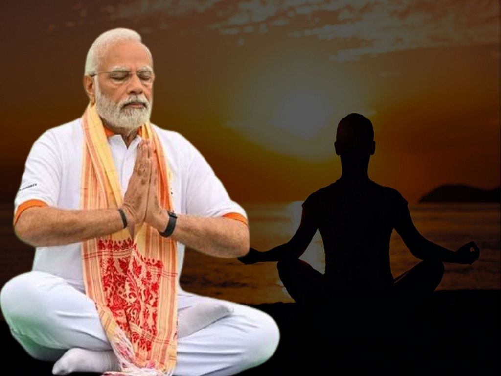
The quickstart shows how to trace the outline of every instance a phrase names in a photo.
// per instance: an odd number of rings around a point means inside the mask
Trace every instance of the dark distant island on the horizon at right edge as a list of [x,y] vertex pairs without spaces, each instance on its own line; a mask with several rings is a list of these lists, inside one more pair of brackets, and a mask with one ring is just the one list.
[[498,203],[499,187],[482,190],[468,185],[441,185],[419,199],[419,203]]

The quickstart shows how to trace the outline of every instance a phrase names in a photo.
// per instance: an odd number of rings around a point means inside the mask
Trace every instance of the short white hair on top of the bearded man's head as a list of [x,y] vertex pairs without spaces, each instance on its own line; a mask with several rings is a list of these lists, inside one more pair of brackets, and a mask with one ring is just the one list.
[[139,35],[136,31],[124,28],[108,30],[97,37],[89,49],[87,59],[85,60],[85,75],[92,76],[96,74],[99,59],[105,54],[106,50],[111,45],[123,41],[137,41],[141,43],[151,56],[151,52],[141,41],[141,35]]

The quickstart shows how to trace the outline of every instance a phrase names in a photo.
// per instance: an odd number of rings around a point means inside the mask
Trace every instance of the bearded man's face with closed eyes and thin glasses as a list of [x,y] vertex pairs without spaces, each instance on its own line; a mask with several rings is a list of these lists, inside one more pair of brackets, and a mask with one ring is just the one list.
[[149,121],[153,68],[141,43],[126,41],[109,47],[97,73],[96,108],[107,125],[130,132]]

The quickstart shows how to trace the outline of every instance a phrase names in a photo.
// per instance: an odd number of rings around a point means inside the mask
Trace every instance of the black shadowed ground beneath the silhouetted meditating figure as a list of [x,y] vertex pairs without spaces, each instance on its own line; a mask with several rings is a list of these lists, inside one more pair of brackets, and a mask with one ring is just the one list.
[[[295,303],[256,306],[281,330],[275,355],[240,373],[254,375],[499,375],[499,290],[437,291],[415,315],[405,310],[374,318],[352,302],[307,313]],[[0,321],[7,373],[51,375],[52,364],[30,358]],[[75,373],[94,376],[96,373]]]

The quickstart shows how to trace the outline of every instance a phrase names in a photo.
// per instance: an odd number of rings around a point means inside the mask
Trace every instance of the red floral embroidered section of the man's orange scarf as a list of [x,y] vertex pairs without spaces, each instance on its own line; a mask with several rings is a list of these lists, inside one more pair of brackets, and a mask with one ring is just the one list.
[[[123,242],[100,240],[97,246],[101,254],[106,305],[122,330],[131,333],[132,343],[151,350],[152,343],[148,337],[154,337],[157,333],[159,281],[163,263],[139,254],[132,239]],[[113,254],[113,251],[128,249],[131,252],[127,256]],[[129,323],[139,326],[141,331],[131,330]],[[149,336],[145,337],[143,333]]]

